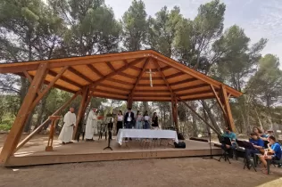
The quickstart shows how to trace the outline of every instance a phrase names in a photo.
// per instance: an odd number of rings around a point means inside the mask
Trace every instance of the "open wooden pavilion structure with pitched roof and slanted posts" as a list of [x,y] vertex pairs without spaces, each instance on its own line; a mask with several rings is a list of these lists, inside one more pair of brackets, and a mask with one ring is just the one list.
[[[74,93],[70,101],[54,112],[54,116],[79,94],[82,100],[77,116],[78,124],[93,96],[127,101],[129,107],[132,102],[171,102],[177,131],[178,102],[212,98],[219,103],[228,126],[235,130],[228,100],[230,97],[242,95],[228,85],[153,50],[3,63],[0,64],[0,73],[27,77],[30,82],[28,93],[4,142],[0,156],[1,164],[48,123],[46,120],[20,142],[29,114],[52,87]],[[42,89],[43,84],[46,84],[45,89]]]

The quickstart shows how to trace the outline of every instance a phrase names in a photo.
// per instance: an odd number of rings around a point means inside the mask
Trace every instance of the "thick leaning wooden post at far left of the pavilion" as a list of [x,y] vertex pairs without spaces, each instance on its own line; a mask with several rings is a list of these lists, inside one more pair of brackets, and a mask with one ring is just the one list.
[[21,104],[21,109],[19,110],[17,117],[15,118],[12,125],[11,131],[8,134],[6,141],[4,142],[4,147],[0,155],[0,164],[4,164],[7,159],[9,159],[12,152],[16,149],[18,142],[20,142],[24,124],[29,116],[29,107],[34,101],[37,91],[40,88],[41,83],[43,82],[43,79],[46,75],[46,70],[46,63],[41,63],[38,66],[36,76],[29,85],[29,91]]

